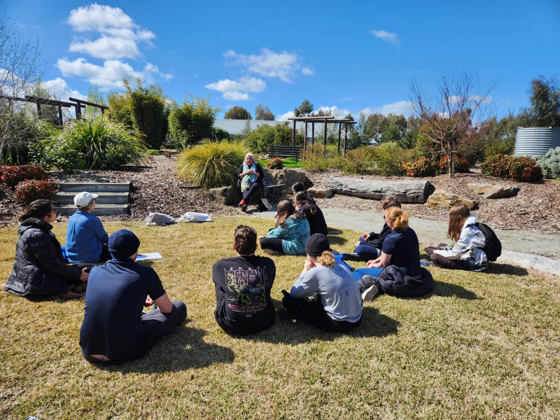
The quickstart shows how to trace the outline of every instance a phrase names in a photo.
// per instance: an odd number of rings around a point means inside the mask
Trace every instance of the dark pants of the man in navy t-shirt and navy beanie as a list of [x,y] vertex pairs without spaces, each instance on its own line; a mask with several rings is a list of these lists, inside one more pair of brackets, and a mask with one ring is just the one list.
[[146,353],[162,339],[176,325],[179,325],[187,317],[187,307],[181,301],[173,302],[173,309],[168,314],[160,312],[160,309],[154,309],[147,314],[142,315],[142,330],[140,332],[140,351],[131,354],[125,358],[99,360],[92,358],[82,349],[82,355],[85,360],[95,365],[119,365],[130,360],[135,360],[146,356]]

